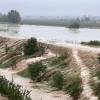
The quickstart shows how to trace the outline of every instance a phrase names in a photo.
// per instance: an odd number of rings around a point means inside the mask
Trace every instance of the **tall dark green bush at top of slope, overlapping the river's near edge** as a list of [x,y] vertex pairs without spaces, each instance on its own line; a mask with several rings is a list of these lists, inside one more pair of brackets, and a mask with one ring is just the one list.
[[24,55],[32,55],[38,51],[37,40],[36,38],[31,38],[27,40],[24,44]]

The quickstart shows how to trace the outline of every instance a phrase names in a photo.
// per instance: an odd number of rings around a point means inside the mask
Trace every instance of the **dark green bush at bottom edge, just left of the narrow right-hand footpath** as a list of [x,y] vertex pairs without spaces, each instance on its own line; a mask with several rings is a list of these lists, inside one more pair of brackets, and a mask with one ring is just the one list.
[[79,77],[70,77],[65,90],[73,99],[78,99],[82,92],[81,79]]

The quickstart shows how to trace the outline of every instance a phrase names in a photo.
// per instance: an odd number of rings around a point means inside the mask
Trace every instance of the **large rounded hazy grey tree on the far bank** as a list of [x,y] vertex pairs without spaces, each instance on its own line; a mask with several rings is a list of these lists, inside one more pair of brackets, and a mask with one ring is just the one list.
[[8,12],[7,17],[8,21],[11,23],[19,23],[21,21],[20,14],[16,10],[11,10],[10,12]]

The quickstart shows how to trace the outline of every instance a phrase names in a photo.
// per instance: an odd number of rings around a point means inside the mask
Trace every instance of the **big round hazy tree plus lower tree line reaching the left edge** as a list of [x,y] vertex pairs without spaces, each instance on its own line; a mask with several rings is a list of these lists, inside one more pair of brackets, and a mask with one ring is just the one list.
[[20,23],[21,16],[18,11],[11,10],[8,14],[0,14],[0,22]]

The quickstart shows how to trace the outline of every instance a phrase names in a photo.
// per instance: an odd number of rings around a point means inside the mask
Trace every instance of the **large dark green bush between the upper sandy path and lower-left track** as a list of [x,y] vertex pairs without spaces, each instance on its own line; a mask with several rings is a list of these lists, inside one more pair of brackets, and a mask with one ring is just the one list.
[[32,80],[40,82],[46,72],[46,66],[42,62],[36,62],[29,65],[29,74]]

